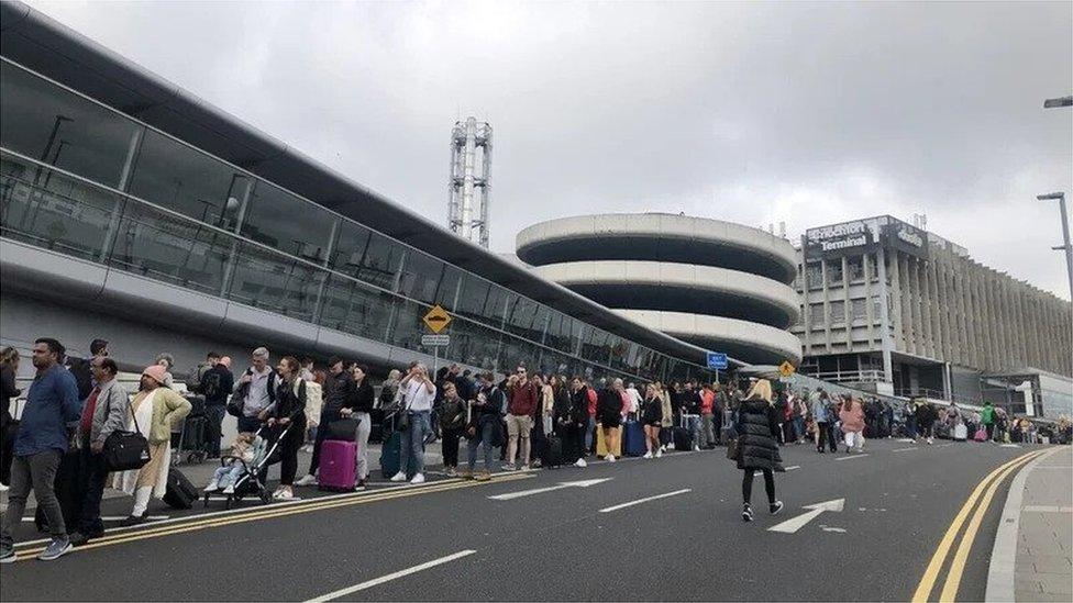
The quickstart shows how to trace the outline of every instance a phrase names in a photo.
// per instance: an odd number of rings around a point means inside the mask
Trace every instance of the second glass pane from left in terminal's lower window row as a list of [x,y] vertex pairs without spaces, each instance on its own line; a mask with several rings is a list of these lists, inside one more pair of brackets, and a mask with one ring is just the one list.
[[129,201],[109,264],[219,295],[232,241],[202,224]]

